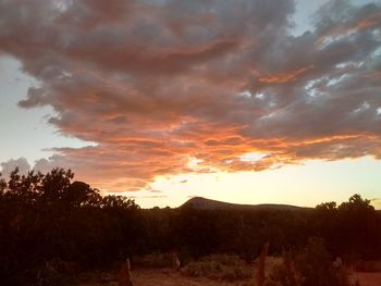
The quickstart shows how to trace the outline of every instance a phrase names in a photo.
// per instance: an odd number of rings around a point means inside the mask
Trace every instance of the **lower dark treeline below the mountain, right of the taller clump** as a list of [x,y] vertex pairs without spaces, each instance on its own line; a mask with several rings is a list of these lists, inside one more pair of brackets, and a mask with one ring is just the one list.
[[150,249],[175,249],[185,257],[235,253],[253,261],[265,243],[270,244],[270,254],[281,256],[319,237],[333,258],[381,258],[381,212],[359,195],[340,206],[325,202],[315,209],[201,210],[187,206],[142,212],[149,223],[148,238],[153,238]]

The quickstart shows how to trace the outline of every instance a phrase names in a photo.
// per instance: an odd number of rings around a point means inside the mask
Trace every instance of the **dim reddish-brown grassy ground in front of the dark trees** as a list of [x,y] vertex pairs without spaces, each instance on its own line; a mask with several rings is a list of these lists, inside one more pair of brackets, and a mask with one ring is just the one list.
[[[155,253],[140,257],[140,265],[132,263],[132,281],[134,285],[140,286],[258,286],[256,285],[256,274],[258,261],[245,263],[236,256],[213,254],[204,257],[197,261],[192,261],[175,271],[172,269],[171,253]],[[317,258],[316,258],[317,259]],[[279,271],[283,265],[284,258],[267,257],[266,259],[266,283],[265,285],[297,285],[282,284],[280,281],[271,284],[270,277],[273,271]],[[163,265],[169,268],[162,268]],[[144,265],[144,266],[142,266]],[[151,266],[153,265],[153,266]],[[316,265],[315,265],[316,268]],[[344,269],[343,269],[344,270]],[[118,272],[89,272],[81,275],[77,281],[81,286],[118,286]],[[337,273],[336,273],[337,274]],[[342,273],[347,275],[347,273]],[[381,273],[351,273],[351,281],[357,278],[361,286],[381,285]],[[346,285],[346,284],[340,284]],[[358,285],[358,284],[351,284]]]

